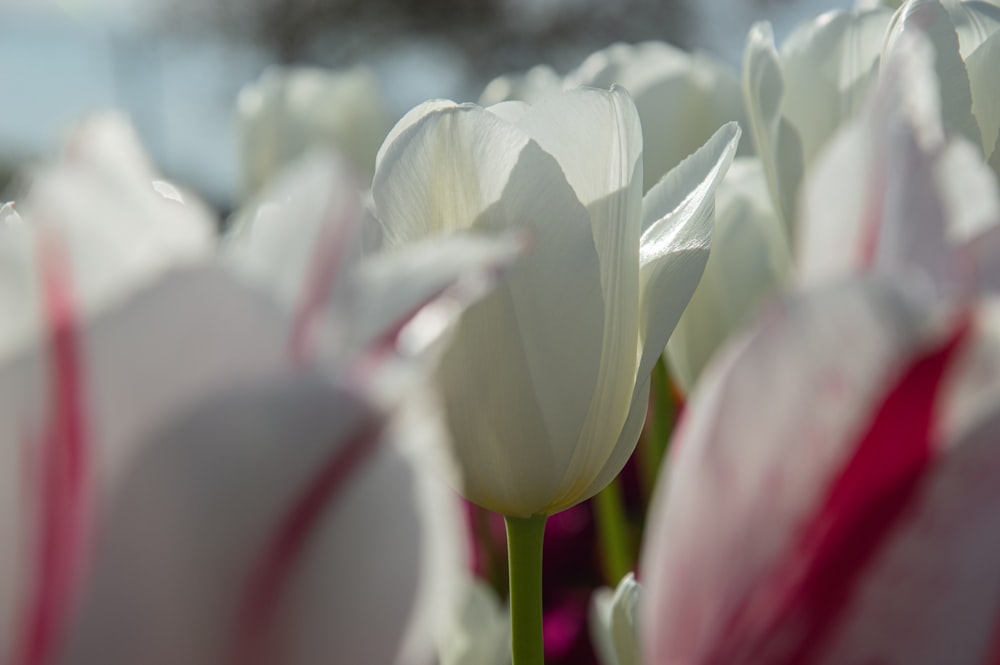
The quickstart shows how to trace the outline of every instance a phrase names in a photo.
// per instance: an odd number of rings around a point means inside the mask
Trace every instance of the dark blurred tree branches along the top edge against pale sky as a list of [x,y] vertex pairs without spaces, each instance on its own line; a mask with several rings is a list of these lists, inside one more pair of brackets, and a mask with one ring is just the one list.
[[488,76],[548,61],[559,49],[683,42],[685,31],[684,0],[187,0],[170,11],[183,25],[252,42],[279,62],[309,60],[321,42],[327,52],[334,45],[337,60],[355,60],[418,34],[449,42]]

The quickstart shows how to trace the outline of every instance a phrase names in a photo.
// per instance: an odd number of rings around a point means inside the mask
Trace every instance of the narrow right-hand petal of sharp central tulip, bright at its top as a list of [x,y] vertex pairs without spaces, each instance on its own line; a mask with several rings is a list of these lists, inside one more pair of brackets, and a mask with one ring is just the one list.
[[[639,308],[639,226],[642,205],[642,130],[631,99],[579,88],[549,97],[518,123],[555,156],[587,206],[600,259],[604,296],[600,368],[590,408],[572,450],[555,505],[580,500],[603,467],[635,387]],[[580,138],[586,136],[587,141]],[[600,164],[603,168],[594,168]],[[574,270],[580,270],[574,266]],[[565,380],[563,380],[563,385]]]

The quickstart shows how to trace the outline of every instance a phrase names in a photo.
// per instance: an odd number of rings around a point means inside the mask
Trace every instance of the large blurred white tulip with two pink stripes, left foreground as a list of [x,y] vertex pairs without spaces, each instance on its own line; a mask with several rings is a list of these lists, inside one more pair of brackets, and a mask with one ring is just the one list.
[[[317,160],[278,188],[286,233],[323,230],[308,256],[264,235],[276,260],[310,268],[255,272],[252,241],[203,251],[210,222],[154,181],[121,127],[84,125],[23,220],[0,208],[0,273],[16,287],[0,296],[32,315],[0,338],[0,653],[430,662],[464,527],[428,468],[445,448],[438,411],[382,386],[412,365],[423,397],[417,361],[448,322],[422,318],[481,295],[482,279],[454,287],[516,244],[361,265],[357,192]],[[295,289],[288,270],[305,273]],[[392,297],[348,304],[371,292]],[[333,321],[350,343],[328,339]],[[404,348],[414,326],[427,344]]]

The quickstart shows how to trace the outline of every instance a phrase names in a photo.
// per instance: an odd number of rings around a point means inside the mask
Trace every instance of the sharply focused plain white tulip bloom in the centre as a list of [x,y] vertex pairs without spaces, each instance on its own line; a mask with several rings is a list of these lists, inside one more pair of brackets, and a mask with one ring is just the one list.
[[372,188],[388,251],[456,231],[530,234],[438,372],[468,498],[551,514],[621,470],[738,136],[723,127],[643,198],[639,118],[618,88],[534,106],[430,102],[390,132]]

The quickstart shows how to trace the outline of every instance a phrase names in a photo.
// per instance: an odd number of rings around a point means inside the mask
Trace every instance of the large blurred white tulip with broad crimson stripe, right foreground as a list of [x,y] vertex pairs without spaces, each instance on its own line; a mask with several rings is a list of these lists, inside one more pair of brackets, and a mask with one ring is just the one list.
[[933,72],[926,43],[896,45],[807,185],[805,242],[843,233],[823,279],[688,403],[643,553],[644,662],[997,658],[997,194],[941,131]]

